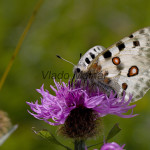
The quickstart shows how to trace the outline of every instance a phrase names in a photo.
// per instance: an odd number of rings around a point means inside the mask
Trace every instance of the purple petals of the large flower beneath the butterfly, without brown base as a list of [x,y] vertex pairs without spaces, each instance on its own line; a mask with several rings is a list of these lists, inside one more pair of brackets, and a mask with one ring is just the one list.
[[[108,114],[117,115],[122,118],[131,118],[136,115],[132,113],[124,115],[128,110],[132,110],[136,105],[128,106],[131,102],[132,96],[129,100],[125,100],[125,93],[123,97],[116,97],[113,92],[110,96],[100,93],[89,93],[88,87],[83,90],[78,83],[77,86],[70,86],[69,83],[58,83],[54,80],[56,88],[50,86],[55,92],[55,96],[50,94],[48,90],[44,90],[44,85],[37,91],[42,95],[41,103],[38,100],[27,102],[31,110],[29,113],[39,120],[44,120],[50,125],[64,124],[70,112],[76,108],[82,107],[93,110],[97,117],[103,117]],[[95,118],[96,119],[96,118]]]

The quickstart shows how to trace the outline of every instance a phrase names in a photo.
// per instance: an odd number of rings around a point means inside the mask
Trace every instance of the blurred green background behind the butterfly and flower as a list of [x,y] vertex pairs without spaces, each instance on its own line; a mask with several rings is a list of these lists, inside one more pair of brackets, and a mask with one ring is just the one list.
[[[0,77],[16,47],[37,0],[0,0]],[[26,101],[40,99],[35,89],[52,79],[45,73],[64,71],[72,76],[72,65],[56,58],[56,54],[77,64],[79,54],[95,45],[108,47],[130,33],[150,26],[149,0],[45,0],[23,42],[6,82],[0,91],[0,109],[8,112],[18,130],[2,145],[1,150],[59,150],[57,145],[37,137],[32,127],[49,126],[28,114]],[[67,81],[63,79],[63,81]],[[112,141],[126,144],[127,150],[150,149],[150,92],[136,102],[139,116],[122,119],[103,118],[105,133],[119,122],[122,131]],[[72,141],[57,137],[72,146]],[[99,138],[90,140],[96,143]]]

